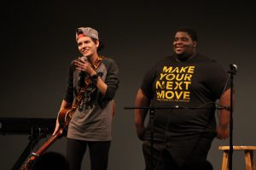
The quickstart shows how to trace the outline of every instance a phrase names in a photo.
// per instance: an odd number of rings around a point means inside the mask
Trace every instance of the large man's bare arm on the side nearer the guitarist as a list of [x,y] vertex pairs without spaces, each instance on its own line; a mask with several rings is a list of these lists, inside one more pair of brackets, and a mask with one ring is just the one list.
[[[135,105],[137,107],[148,106],[150,104],[149,99],[143,94],[142,89],[137,92]],[[144,121],[147,116],[147,110],[135,109],[134,110],[134,122],[137,129],[137,136],[139,139],[143,140],[143,133],[145,130]]]

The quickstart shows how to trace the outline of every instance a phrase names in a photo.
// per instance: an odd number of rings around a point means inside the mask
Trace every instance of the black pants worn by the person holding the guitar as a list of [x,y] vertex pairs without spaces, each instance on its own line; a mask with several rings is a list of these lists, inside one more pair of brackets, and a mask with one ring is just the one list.
[[91,170],[107,170],[111,141],[84,141],[67,138],[67,161],[70,170],[80,170],[87,145]]

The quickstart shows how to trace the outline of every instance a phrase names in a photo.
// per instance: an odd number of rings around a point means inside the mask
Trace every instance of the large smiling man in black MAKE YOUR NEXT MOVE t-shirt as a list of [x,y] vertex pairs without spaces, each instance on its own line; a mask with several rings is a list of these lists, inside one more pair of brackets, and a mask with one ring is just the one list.
[[148,111],[135,110],[146,169],[184,169],[195,158],[207,162],[212,139],[229,136],[230,111],[220,111],[218,126],[214,115],[217,99],[220,105],[230,106],[228,74],[216,61],[198,54],[196,47],[195,31],[187,27],[178,29],[173,41],[174,54],[160,59],[148,70],[137,92],[137,106],[170,108],[155,110],[153,167],[152,124],[144,127]]

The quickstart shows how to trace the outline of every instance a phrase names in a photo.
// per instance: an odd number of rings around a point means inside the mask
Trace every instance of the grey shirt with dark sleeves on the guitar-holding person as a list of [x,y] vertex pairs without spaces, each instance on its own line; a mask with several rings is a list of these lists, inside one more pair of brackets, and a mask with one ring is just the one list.
[[[87,141],[111,140],[111,122],[113,114],[113,97],[119,85],[118,67],[113,59],[103,58],[101,65],[96,69],[97,75],[108,85],[107,92],[102,95],[96,84],[90,83],[84,97],[74,112],[68,126],[67,137]],[[81,71],[75,70],[73,63],[69,67],[67,93],[65,100],[73,103],[81,88]]]

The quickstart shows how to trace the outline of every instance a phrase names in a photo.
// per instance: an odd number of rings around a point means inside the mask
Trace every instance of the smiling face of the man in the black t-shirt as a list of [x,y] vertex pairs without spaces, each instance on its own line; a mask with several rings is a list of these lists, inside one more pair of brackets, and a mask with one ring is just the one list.
[[196,42],[192,41],[189,34],[184,31],[178,31],[173,41],[173,51],[177,56],[189,57],[195,54]]

